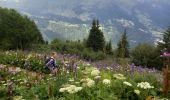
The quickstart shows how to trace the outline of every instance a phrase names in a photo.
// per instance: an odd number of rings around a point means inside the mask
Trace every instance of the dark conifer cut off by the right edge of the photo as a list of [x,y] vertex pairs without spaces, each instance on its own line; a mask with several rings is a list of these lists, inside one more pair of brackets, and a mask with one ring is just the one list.
[[170,27],[164,32],[162,42],[158,43],[160,49],[166,48],[170,52]]

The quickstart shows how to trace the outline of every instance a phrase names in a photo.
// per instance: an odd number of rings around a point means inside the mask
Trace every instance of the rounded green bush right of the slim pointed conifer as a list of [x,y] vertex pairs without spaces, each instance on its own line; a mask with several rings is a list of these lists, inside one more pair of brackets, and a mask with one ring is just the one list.
[[147,43],[139,44],[131,51],[132,62],[136,65],[161,69],[161,59],[156,47]]

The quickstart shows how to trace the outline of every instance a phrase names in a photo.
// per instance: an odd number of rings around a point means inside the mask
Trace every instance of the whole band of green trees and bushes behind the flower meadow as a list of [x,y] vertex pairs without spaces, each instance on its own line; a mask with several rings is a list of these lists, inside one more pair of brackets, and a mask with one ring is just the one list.
[[47,45],[34,21],[20,15],[16,10],[0,8],[0,49],[28,50],[31,48],[42,51],[42,49],[50,48],[62,53],[78,54],[88,60],[101,60],[110,56],[111,58],[127,58],[136,65],[150,67],[162,66],[160,58],[162,49],[166,48],[167,52],[170,52],[170,28],[164,32],[162,42],[158,42],[158,45],[141,43],[134,48],[129,46],[125,29],[117,43],[117,48],[113,49],[111,38],[106,41],[100,27],[99,20],[94,19],[87,39],[82,41],[54,39]]

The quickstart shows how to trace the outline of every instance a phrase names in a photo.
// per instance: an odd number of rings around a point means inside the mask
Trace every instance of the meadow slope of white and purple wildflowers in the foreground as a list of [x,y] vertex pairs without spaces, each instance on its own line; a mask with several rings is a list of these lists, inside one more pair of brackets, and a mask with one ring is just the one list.
[[[0,99],[145,100],[162,99],[162,75],[134,65],[103,67],[79,59],[58,61],[59,72],[44,70],[40,54],[0,53]],[[61,59],[62,58],[58,58]],[[65,69],[66,67],[67,69]],[[101,67],[102,66],[102,67]],[[168,99],[168,97],[167,97]]]

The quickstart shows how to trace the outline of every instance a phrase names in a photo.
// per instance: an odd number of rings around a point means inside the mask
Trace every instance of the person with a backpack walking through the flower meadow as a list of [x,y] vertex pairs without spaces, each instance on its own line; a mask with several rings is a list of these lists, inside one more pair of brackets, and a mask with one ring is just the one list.
[[56,59],[57,58],[57,53],[56,52],[53,52],[51,54],[51,57],[47,59],[47,61],[45,62],[45,66],[46,68],[48,68],[50,70],[50,72],[53,74],[53,75],[56,75],[57,74],[57,64],[56,64]]

